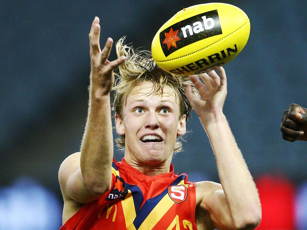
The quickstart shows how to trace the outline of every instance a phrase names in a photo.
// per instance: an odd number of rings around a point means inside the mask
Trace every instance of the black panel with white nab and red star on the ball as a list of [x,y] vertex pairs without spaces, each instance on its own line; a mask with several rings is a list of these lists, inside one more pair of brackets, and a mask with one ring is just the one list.
[[177,22],[160,32],[165,57],[196,41],[222,34],[217,10],[208,11]]

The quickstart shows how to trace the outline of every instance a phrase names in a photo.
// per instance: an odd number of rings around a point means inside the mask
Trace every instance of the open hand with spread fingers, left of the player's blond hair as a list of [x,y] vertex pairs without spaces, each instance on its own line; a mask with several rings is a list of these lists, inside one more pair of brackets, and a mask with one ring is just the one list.
[[125,57],[121,56],[111,62],[108,60],[113,44],[113,40],[110,37],[107,39],[103,50],[100,49],[98,17],[95,17],[88,36],[90,39],[92,96],[100,98],[111,91],[114,85],[113,71],[125,61]]

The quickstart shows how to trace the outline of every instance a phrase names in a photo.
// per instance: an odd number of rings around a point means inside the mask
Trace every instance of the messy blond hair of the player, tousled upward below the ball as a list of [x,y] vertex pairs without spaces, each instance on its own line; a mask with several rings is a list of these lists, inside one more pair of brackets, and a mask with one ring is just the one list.
[[[126,56],[126,60],[119,66],[118,79],[115,81],[115,86],[112,90],[114,93],[113,110],[120,119],[123,118],[123,103],[126,103],[128,92],[134,86],[151,81],[153,89],[151,93],[159,92],[163,94],[164,86],[169,86],[175,92],[176,100],[179,99],[179,119],[185,114],[186,120],[191,117],[192,107],[185,96],[187,85],[191,85],[195,95],[199,95],[195,86],[192,84],[188,76],[174,75],[162,70],[154,62],[151,52],[146,50],[134,50],[132,46],[124,44],[125,37],[122,37],[116,43],[117,56]],[[198,96],[199,97],[199,96]],[[182,150],[182,144],[178,140],[174,147],[174,152]],[[121,135],[116,139],[119,149],[124,150],[125,135]]]

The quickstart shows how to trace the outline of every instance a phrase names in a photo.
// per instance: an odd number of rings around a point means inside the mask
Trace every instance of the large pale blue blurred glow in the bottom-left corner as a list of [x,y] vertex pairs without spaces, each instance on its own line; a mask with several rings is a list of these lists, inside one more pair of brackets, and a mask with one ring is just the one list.
[[58,229],[61,213],[56,196],[29,177],[17,178],[0,190],[0,229]]

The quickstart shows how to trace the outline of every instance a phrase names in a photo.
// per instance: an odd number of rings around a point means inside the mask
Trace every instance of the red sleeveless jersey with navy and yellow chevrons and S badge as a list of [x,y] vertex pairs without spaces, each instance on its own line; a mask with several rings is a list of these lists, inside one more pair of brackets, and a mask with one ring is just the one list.
[[102,197],[84,204],[60,230],[197,230],[195,183],[187,174],[149,177],[124,160],[112,163],[112,184]]

